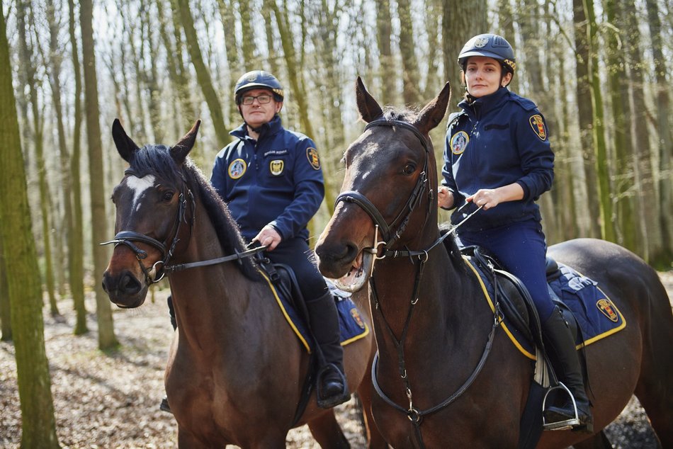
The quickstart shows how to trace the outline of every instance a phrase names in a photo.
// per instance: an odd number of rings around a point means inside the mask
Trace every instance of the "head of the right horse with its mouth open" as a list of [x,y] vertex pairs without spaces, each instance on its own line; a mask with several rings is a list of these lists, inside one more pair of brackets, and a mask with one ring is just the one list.
[[436,225],[436,163],[428,132],[439,125],[448,83],[419,113],[384,110],[358,77],[358,110],[368,125],[344,154],[341,195],[315,246],[324,275],[344,290],[362,288],[383,251],[422,244]]

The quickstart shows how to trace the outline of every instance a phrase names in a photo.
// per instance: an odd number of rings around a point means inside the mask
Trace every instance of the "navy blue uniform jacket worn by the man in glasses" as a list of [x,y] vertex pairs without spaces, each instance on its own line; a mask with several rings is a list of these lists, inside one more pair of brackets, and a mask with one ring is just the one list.
[[215,158],[210,182],[250,241],[271,224],[283,240],[308,238],[306,225],[324,198],[315,143],[276,117],[253,140],[242,125]]

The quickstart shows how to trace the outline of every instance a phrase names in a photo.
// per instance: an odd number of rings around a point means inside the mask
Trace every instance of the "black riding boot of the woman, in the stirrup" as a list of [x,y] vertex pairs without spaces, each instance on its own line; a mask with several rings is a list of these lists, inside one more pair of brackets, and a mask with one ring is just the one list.
[[[560,377],[560,380],[570,390],[575,397],[577,404],[577,416],[579,426],[574,430],[592,431],[593,418],[589,407],[589,398],[584,391],[584,382],[582,379],[582,366],[579,363],[579,356],[575,348],[575,338],[572,336],[570,327],[565,322],[563,315],[558,307],[554,308],[551,316],[542,325],[545,345],[550,348],[550,358],[554,369]],[[562,407],[550,406],[545,411],[545,421],[557,422],[575,419],[575,410],[572,407],[570,397]]]

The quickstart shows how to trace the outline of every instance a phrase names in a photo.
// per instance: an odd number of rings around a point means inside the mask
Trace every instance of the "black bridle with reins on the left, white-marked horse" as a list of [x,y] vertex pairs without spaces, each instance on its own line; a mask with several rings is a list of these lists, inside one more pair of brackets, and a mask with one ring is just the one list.
[[[132,175],[132,176],[137,176],[134,171],[131,169],[127,169],[124,172],[125,175]],[[266,246],[257,246],[256,248],[249,249],[247,251],[235,251],[235,254],[232,254],[230,256],[222,256],[222,257],[217,257],[217,258],[212,258],[208,259],[205,261],[198,261],[198,262],[191,262],[191,263],[179,263],[176,265],[169,265],[169,261],[174,255],[176,245],[180,241],[179,235],[180,235],[180,229],[182,224],[188,224],[189,226],[189,235],[191,237],[192,229],[194,227],[194,220],[196,220],[196,201],[194,200],[194,195],[191,191],[190,188],[187,187],[186,183],[186,177],[183,172],[181,172],[181,177],[182,177],[182,188],[180,191],[180,195],[178,198],[179,205],[178,205],[178,211],[176,212],[176,216],[174,219],[173,227],[172,229],[175,229],[174,232],[169,232],[169,236],[172,234],[173,237],[168,237],[166,240],[159,241],[157,239],[154,239],[152,237],[149,237],[148,235],[145,234],[140,234],[140,232],[135,232],[135,231],[120,231],[118,232],[114,239],[110,241],[104,241],[101,243],[101,245],[109,245],[109,244],[114,244],[115,248],[118,245],[125,245],[128,246],[128,248],[135,254],[135,258],[138,261],[138,265],[140,265],[140,269],[142,270],[142,273],[145,274],[145,283],[147,285],[152,285],[154,283],[158,283],[160,280],[164,278],[166,274],[174,273],[176,271],[183,271],[188,268],[196,268],[200,266],[209,266],[209,265],[215,265],[217,263],[223,263],[223,262],[228,262],[228,261],[234,261],[234,260],[241,260],[243,258],[253,256],[254,254],[257,254],[261,251],[264,251],[266,249]],[[188,205],[191,205],[191,219],[187,221],[187,214],[186,210]],[[170,241],[170,243],[169,243]],[[145,266],[144,263],[142,263],[143,259],[147,258],[147,251],[144,251],[134,243],[134,242],[140,242],[144,244],[148,244],[149,246],[154,247],[155,249],[159,250],[159,253],[161,253],[161,258],[159,261],[155,262],[151,267]]]

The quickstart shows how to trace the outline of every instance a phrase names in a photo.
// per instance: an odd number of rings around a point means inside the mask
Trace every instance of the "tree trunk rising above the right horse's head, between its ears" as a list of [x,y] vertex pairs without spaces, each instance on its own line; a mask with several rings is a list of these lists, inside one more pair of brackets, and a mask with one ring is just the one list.
[[400,53],[402,53],[402,97],[407,106],[418,106],[420,101],[418,59],[414,42],[414,23],[409,0],[397,0],[400,16]]

